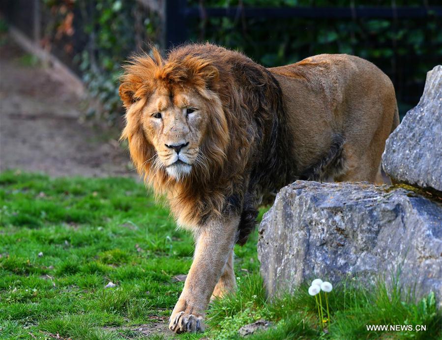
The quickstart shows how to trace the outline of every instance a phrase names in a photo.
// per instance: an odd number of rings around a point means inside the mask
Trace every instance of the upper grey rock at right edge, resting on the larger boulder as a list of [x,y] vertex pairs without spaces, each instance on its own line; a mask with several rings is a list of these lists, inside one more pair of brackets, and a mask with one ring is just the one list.
[[442,66],[427,73],[419,103],[388,137],[384,171],[398,183],[442,191]]

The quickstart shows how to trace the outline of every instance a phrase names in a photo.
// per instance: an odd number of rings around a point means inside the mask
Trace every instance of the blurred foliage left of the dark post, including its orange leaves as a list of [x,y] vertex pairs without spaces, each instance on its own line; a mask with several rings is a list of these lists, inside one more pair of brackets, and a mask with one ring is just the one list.
[[118,96],[121,64],[158,40],[158,16],[141,1],[44,0],[50,10],[45,38],[73,58],[88,86],[87,116],[113,123],[122,113]]

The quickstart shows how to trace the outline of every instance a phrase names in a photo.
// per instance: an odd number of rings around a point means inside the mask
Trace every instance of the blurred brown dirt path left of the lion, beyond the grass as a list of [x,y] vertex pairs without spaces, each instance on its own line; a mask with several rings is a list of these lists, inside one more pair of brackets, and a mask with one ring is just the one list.
[[81,100],[29,59],[0,47],[0,170],[133,176],[118,131],[81,123]]

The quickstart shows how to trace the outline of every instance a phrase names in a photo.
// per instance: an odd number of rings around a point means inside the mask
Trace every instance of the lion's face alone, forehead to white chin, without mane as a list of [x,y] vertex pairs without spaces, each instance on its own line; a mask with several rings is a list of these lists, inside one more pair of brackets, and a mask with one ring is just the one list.
[[203,98],[192,89],[157,88],[142,111],[146,138],[155,148],[154,166],[180,180],[204,162],[200,146],[207,126]]

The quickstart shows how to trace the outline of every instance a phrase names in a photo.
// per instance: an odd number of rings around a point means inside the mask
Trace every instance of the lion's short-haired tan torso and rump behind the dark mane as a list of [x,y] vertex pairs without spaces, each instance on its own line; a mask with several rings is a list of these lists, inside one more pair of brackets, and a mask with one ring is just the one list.
[[367,148],[364,138],[370,142],[382,126],[380,135],[388,135],[397,107],[394,88],[373,63],[322,54],[268,70],[282,89],[301,164],[326,153],[332,136],[340,135],[362,150]]

